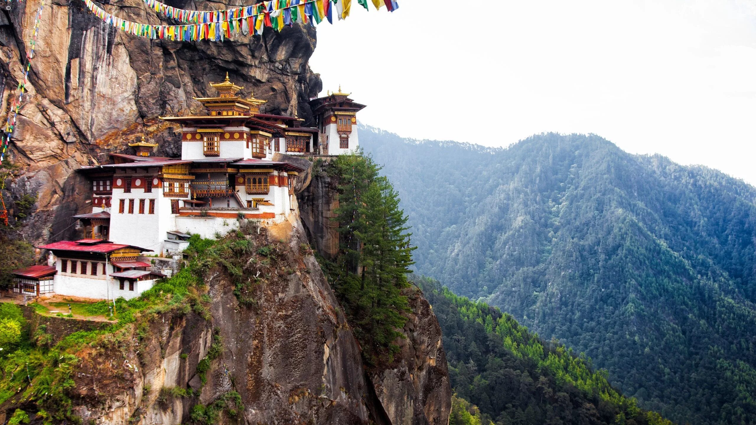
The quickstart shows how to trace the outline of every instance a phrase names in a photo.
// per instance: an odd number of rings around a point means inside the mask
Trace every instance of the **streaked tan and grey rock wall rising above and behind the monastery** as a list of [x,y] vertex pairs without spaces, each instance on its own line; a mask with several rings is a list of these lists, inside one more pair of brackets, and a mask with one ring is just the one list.
[[[159,23],[141,0],[109,4],[119,17]],[[23,81],[20,58],[29,48],[40,0],[8,5],[11,10],[0,13],[3,113]],[[209,10],[242,2],[191,5]],[[19,170],[6,181],[4,194],[11,209],[23,194],[38,197],[23,228],[28,240],[73,236],[70,216],[88,206],[86,183],[74,172],[80,166],[104,162],[110,151],[128,151],[127,143],[142,133],[160,143],[158,154],[178,156],[175,129],[158,116],[197,112],[193,98],[208,95],[209,82],[221,81],[226,72],[245,87],[244,95],[252,90],[268,100],[263,112],[311,118],[307,102],[320,92],[321,81],[308,67],[315,47],[310,27],[224,43],[150,41],[116,31],[83,7],[78,1],[46,3],[29,93],[12,138],[10,158]]]

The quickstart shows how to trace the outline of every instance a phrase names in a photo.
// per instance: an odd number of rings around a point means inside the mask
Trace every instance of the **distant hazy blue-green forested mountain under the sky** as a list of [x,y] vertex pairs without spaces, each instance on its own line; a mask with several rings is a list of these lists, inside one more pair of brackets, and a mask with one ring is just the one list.
[[678,422],[756,423],[756,190],[596,135],[507,149],[362,128],[417,270],[586,352]]

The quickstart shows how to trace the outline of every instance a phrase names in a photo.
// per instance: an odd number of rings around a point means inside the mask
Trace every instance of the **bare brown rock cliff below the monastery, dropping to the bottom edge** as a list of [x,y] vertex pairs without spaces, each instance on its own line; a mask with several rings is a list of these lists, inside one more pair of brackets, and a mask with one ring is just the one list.
[[[186,423],[194,405],[231,392],[243,408],[226,409],[217,423],[448,423],[441,332],[421,296],[413,297],[398,360],[366,369],[298,222],[247,238],[273,249],[267,264],[247,260],[246,273],[265,276],[252,304],[237,299],[234,278],[215,266],[205,276],[209,317],[155,314],[141,330],[79,352],[73,410],[84,423]],[[197,365],[218,341],[203,384]],[[187,386],[197,395],[169,391]]]

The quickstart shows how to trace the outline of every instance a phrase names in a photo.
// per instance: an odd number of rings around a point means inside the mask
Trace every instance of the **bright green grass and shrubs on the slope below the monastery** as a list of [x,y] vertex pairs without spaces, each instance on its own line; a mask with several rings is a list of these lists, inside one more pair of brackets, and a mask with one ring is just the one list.
[[[14,352],[0,357],[0,404],[10,399],[17,402],[23,400],[25,406],[36,405],[37,414],[44,413],[44,423],[60,423],[64,420],[78,423],[79,418],[72,411],[73,401],[69,391],[76,385],[73,377],[80,361],[77,354],[82,349],[102,350],[109,346],[123,346],[132,334],[139,338],[147,337],[147,322],[160,313],[187,314],[193,309],[202,312],[208,310],[202,305],[205,301],[200,296],[206,293],[207,287],[199,276],[216,264],[211,258],[214,255],[209,250],[218,241],[194,236],[190,242],[187,250],[190,261],[187,267],[172,278],[158,282],[138,298],[116,299],[116,323],[101,330],[71,333],[51,347],[44,334],[40,333],[39,338],[27,338],[26,343]],[[75,314],[108,314],[109,303],[105,301],[55,302],[53,306],[67,314],[69,303]],[[39,313],[50,314],[45,306],[36,303],[31,306]],[[214,341],[214,345],[215,343],[217,341]],[[222,350],[222,346],[220,349]]]

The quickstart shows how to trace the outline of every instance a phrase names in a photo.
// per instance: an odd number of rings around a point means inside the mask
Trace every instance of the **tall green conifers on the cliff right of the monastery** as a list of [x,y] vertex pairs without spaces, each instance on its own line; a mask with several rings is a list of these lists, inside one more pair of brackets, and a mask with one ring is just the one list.
[[380,167],[361,152],[333,162],[339,176],[341,238],[334,288],[355,333],[367,349],[368,361],[391,355],[402,337],[403,313],[409,311],[402,290],[409,284],[412,250],[407,216],[399,209],[398,194]]

